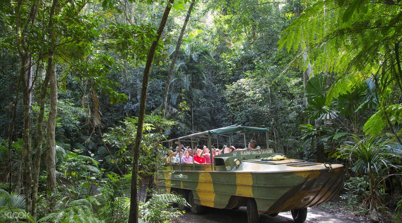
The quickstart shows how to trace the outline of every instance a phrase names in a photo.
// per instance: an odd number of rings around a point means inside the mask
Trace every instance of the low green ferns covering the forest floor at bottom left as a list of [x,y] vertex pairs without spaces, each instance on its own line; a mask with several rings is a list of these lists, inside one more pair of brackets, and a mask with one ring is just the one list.
[[[81,189],[81,187],[80,187]],[[76,191],[80,191],[77,189]],[[130,209],[128,197],[114,197],[100,193],[87,195],[85,192],[75,197],[65,197],[49,213],[45,207],[38,210],[37,223],[124,223]],[[78,197],[84,197],[76,199]],[[75,199],[75,200],[74,200]],[[70,201],[71,200],[71,201]],[[187,201],[175,194],[155,194],[149,201],[139,203],[139,220],[147,223],[170,222],[183,213],[172,207],[172,203],[189,206]],[[25,196],[0,189],[0,223],[31,222],[33,217],[25,212]],[[141,222],[141,221],[140,221]]]

